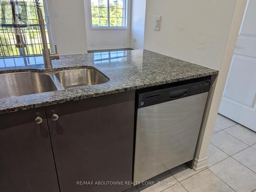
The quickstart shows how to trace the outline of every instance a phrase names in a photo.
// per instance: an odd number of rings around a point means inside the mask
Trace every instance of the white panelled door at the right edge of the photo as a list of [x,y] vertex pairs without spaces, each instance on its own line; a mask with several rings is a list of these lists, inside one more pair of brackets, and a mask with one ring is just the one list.
[[256,131],[256,0],[249,0],[219,113]]

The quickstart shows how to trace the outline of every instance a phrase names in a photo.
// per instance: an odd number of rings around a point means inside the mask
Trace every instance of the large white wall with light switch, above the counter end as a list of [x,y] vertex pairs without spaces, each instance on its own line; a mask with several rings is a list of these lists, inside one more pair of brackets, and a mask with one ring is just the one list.
[[[147,0],[144,49],[219,69],[234,0]],[[154,31],[161,15],[160,31]]]

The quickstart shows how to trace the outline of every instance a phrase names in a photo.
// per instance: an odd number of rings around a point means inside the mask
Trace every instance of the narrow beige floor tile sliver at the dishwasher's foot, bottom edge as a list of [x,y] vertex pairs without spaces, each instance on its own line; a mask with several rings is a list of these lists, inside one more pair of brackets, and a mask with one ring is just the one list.
[[150,187],[145,188],[144,190],[142,190],[142,192],[160,192],[168,187],[177,185],[177,183],[178,181],[173,176],[170,176]]

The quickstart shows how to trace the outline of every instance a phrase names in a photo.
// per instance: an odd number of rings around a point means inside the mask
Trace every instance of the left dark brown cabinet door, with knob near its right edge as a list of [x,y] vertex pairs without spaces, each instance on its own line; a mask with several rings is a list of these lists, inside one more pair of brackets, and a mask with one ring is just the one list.
[[0,122],[0,191],[59,191],[44,108],[1,114]]

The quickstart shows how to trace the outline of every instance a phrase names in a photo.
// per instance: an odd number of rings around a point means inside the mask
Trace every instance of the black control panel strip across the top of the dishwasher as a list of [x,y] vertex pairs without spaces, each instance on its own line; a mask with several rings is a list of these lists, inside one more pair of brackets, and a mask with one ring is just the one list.
[[210,90],[210,85],[210,80],[204,80],[179,86],[172,86],[172,84],[170,84],[170,87],[163,89],[139,91],[137,93],[137,108],[156,105],[159,103],[189,97],[195,94],[208,92]]

